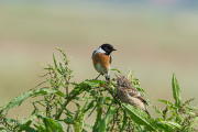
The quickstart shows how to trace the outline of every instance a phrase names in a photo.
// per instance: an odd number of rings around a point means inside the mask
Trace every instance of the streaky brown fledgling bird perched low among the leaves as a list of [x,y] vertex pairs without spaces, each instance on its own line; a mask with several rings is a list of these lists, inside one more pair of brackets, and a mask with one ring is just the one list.
[[121,102],[125,102],[136,108],[140,108],[143,111],[145,111],[148,116],[151,116],[146,108],[147,106],[146,100],[135,88],[132,87],[129,78],[123,75],[116,74],[116,76],[117,76],[117,95],[120,98]]

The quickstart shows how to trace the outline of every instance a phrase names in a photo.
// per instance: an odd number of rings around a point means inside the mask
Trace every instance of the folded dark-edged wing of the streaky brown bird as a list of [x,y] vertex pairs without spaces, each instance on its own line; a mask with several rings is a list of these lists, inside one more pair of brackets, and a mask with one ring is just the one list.
[[144,99],[144,97],[133,87],[128,87],[128,92],[131,97],[138,98],[140,99],[142,102],[144,102],[145,105],[147,105],[146,100]]

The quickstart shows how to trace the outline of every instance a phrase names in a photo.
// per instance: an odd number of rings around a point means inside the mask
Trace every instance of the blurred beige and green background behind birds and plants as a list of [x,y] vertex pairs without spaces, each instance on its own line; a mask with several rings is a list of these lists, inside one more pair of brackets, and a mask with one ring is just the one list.
[[[197,105],[197,6],[195,0],[0,1],[0,106],[44,80],[37,75],[47,70],[38,63],[53,64],[53,53],[59,58],[54,47],[72,55],[72,81],[96,78],[91,54],[103,43],[118,50],[111,68],[134,70],[153,106],[165,109],[153,97],[174,101],[173,73],[183,101],[195,97]],[[25,118],[32,109],[24,101],[9,117]],[[156,118],[153,108],[148,111]]]

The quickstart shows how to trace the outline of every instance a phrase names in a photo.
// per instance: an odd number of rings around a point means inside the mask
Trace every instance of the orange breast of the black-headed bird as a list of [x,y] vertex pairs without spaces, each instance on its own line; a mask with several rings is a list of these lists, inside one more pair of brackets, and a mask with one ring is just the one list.
[[102,54],[102,53],[96,53],[95,55],[94,55],[94,61],[92,61],[92,63],[94,63],[94,65],[96,66],[98,63],[100,63],[100,66],[102,67],[102,68],[109,68],[110,67],[110,61],[109,61],[110,58],[109,58],[109,56],[108,55],[105,55],[105,54]]

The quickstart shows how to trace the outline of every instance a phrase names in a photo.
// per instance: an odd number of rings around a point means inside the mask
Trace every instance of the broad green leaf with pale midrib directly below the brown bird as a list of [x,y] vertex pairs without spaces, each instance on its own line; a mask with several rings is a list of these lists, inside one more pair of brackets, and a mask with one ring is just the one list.
[[157,131],[157,122],[143,110],[128,103],[122,103],[123,110],[140,125],[145,125],[150,131]]

